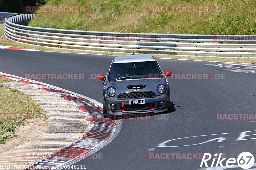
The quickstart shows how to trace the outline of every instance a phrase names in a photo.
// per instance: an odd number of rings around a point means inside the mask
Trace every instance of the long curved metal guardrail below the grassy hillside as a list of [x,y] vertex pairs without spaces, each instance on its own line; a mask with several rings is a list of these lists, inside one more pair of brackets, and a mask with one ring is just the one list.
[[[47,47],[198,56],[256,56],[256,35],[113,33],[27,26],[34,14],[5,18],[5,37]],[[255,39],[254,39],[255,38]]]

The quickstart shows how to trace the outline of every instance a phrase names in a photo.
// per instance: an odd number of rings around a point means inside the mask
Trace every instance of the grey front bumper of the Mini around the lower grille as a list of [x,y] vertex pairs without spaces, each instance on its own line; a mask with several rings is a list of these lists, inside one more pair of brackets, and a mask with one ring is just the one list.
[[[108,111],[108,114],[110,115],[122,115],[122,114],[138,114],[138,113],[159,113],[159,112],[165,112],[168,110],[169,102],[168,94],[166,95],[159,95],[157,97],[152,98],[141,98],[146,100],[146,104],[153,103],[155,104],[155,107],[153,109],[143,109],[143,110],[134,110],[134,111],[122,111],[120,106],[122,105],[122,102],[124,102],[124,106],[129,105],[129,100],[132,99],[116,99],[116,98],[106,98],[106,108]],[[159,101],[164,101],[164,105],[160,106],[158,105]],[[111,104],[116,104],[116,109],[112,109],[110,107]],[[129,107],[132,107],[132,105],[129,105]]]

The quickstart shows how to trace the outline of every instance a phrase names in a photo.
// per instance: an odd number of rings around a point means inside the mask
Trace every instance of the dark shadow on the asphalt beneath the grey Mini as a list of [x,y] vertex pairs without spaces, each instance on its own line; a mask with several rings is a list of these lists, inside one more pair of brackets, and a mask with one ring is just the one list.
[[[154,120],[158,115],[167,115],[169,113],[175,112],[175,104],[171,101],[171,112],[163,112],[163,113],[132,113],[132,114],[123,114],[123,115],[108,115],[103,114],[104,119],[110,120],[124,120],[124,119],[136,119],[136,120]],[[180,107],[180,106],[177,106]]]

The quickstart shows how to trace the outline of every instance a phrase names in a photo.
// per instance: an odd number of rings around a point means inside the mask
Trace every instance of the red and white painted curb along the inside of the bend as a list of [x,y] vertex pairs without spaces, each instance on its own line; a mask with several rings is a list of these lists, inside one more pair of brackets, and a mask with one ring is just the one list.
[[[0,76],[10,78],[12,80],[19,81],[21,83],[25,83],[36,88],[51,92],[70,101],[78,108],[80,108],[91,122],[90,129],[84,134],[83,137],[78,139],[76,142],[60,149],[59,151],[52,153],[46,158],[41,159],[26,167],[25,169],[27,170],[63,169],[69,165],[78,162],[81,159],[86,159],[91,154],[106,146],[117,136],[117,134],[121,130],[122,121],[103,118],[102,107],[100,107],[102,106],[102,104],[91,98],[53,85],[30,80],[27,78],[21,78],[2,72],[0,72]],[[63,157],[63,155],[73,156]]]

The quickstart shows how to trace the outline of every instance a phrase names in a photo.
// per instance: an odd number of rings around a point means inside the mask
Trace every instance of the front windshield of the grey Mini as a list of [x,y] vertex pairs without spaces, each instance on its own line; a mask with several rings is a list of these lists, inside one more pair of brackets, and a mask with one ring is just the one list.
[[162,78],[156,61],[113,63],[108,80],[121,80],[130,78]]

